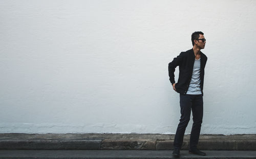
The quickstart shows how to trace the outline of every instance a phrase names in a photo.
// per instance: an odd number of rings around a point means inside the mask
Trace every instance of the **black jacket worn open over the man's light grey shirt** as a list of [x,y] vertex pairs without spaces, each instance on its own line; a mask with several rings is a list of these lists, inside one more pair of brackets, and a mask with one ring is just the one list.
[[[203,95],[203,85],[204,85],[204,67],[207,61],[207,57],[205,54],[200,52],[201,54],[201,70],[200,70],[200,87]],[[188,50],[186,52],[181,52],[179,56],[174,58],[172,62],[168,65],[169,71],[169,80],[172,85],[175,83],[174,72],[175,68],[179,66],[179,79],[175,84],[176,91],[180,94],[186,94],[187,89],[192,77],[193,67],[195,62],[195,54],[193,49]]]

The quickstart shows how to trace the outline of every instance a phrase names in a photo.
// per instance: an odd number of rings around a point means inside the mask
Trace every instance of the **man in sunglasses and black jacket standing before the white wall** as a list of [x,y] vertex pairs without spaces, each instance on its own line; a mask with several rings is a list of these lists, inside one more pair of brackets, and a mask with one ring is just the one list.
[[[193,49],[181,52],[168,65],[169,80],[173,89],[180,94],[181,118],[178,125],[175,139],[173,156],[180,156],[180,149],[183,143],[185,129],[193,112],[193,127],[190,134],[189,153],[206,155],[197,149],[201,124],[203,119],[203,84],[204,67],[207,57],[200,50],[204,49],[206,39],[203,32],[194,32],[191,35]],[[174,72],[179,66],[179,79],[175,83]]]

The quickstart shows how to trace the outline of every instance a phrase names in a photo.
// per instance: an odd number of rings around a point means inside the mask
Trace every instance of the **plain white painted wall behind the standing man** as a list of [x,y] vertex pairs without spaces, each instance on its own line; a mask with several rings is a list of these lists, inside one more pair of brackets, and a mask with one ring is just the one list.
[[168,63],[194,31],[201,134],[255,133],[255,26],[256,1],[1,0],[0,133],[175,134]]

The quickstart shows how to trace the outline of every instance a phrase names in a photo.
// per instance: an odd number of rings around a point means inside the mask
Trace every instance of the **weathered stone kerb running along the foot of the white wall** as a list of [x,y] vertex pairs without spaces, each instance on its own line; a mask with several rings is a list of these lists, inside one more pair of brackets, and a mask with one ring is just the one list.
[[[168,134],[0,134],[1,150],[172,150]],[[188,149],[184,136],[183,150]],[[256,134],[200,135],[201,150],[256,150]]]

